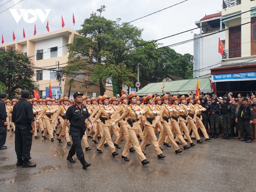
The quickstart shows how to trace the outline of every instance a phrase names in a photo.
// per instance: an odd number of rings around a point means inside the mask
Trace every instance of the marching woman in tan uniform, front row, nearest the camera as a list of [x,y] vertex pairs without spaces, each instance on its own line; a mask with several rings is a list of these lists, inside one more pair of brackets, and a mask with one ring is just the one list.
[[127,142],[124,146],[122,158],[125,161],[129,161],[129,159],[127,159],[127,155],[129,153],[130,146],[133,144],[136,153],[138,154],[139,158],[141,159],[142,165],[146,165],[150,162],[146,159],[146,157],[142,153],[138,138],[136,136],[138,129],[140,129],[140,124],[138,122],[138,115],[142,115],[146,111],[142,110],[140,106],[135,105],[135,103],[136,103],[135,92],[131,92],[127,96],[127,100],[129,101],[128,102],[129,106],[127,108],[125,108],[123,114],[112,123],[112,126],[114,126],[116,123],[121,121],[121,119],[125,118],[125,121],[127,121],[127,129],[128,129],[128,133],[129,133],[129,139],[127,140]]

